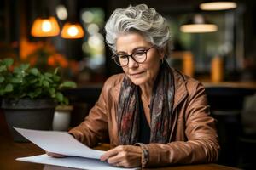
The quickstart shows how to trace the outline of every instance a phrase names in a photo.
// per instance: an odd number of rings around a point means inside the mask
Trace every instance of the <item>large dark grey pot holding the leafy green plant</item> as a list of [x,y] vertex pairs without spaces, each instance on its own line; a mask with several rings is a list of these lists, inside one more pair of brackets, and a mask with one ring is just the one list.
[[15,142],[27,142],[13,127],[51,130],[55,112],[51,99],[2,99],[2,108]]

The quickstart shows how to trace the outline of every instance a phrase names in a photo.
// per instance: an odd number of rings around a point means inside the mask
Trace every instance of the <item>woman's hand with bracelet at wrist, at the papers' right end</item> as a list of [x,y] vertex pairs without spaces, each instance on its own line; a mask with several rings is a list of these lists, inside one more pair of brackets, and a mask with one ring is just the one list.
[[101,161],[108,161],[116,167],[140,167],[142,152],[140,146],[119,145],[103,154]]

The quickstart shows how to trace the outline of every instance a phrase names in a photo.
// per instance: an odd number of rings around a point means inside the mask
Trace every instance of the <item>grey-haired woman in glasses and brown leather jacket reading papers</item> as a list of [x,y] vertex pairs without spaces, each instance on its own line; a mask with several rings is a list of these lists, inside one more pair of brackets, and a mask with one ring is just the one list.
[[118,8],[106,26],[114,62],[89,116],[69,131],[92,147],[110,139],[102,155],[117,167],[157,167],[218,159],[218,135],[202,84],[166,63],[170,31],[145,4]]

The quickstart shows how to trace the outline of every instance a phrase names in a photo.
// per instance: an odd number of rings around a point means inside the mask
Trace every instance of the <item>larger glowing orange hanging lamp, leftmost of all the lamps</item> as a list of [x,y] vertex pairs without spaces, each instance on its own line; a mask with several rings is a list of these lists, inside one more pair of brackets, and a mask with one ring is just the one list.
[[60,27],[54,17],[38,18],[32,24],[33,37],[54,37],[60,33]]

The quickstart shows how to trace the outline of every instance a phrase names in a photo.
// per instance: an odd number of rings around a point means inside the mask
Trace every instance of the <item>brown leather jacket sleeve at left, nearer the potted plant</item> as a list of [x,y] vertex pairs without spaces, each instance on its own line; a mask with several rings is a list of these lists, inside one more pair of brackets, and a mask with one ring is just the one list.
[[107,96],[110,84],[104,83],[102,92],[96,105],[90,110],[89,115],[84,118],[84,122],[73,127],[69,133],[80,142],[93,147],[104,139],[108,139],[108,115]]

